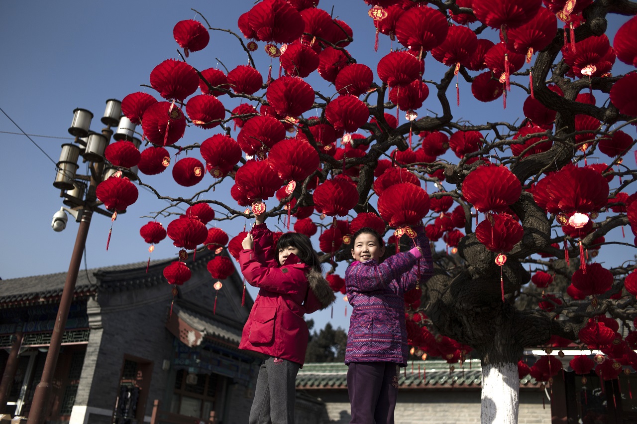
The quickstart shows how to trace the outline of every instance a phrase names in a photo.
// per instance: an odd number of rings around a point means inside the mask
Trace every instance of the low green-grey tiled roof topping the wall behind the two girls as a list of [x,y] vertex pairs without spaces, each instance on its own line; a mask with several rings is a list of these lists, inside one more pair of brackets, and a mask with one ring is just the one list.
[[[398,383],[401,388],[480,388],[482,368],[480,360],[467,360],[464,366],[444,361],[414,361],[401,369]],[[419,371],[420,366],[420,371]],[[530,376],[520,380],[520,387],[535,387],[538,383]],[[347,365],[344,363],[306,363],[296,376],[296,387],[311,389],[347,389]]]

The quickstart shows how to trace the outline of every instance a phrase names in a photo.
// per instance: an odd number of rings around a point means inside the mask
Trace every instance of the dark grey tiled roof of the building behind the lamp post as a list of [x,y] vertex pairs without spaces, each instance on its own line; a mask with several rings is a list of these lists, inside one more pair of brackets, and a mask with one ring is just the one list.
[[[192,255],[186,262],[193,271],[202,267],[205,269],[206,263],[210,260],[212,254],[213,252],[208,250],[197,252],[194,263]],[[169,258],[150,261],[148,273],[146,272],[146,261],[90,268],[89,270],[80,268],[75,283],[75,294],[77,296],[82,293],[94,293],[96,291],[122,291],[154,286],[165,282],[164,267],[175,260],[176,258]],[[0,307],[57,298],[57,296],[62,295],[66,274],[66,272],[57,272],[55,274],[0,280]]]

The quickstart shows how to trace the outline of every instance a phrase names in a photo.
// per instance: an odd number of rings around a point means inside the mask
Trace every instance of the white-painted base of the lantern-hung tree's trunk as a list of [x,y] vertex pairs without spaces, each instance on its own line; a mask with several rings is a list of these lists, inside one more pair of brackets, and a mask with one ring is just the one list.
[[517,363],[482,365],[482,424],[517,424],[520,406]]

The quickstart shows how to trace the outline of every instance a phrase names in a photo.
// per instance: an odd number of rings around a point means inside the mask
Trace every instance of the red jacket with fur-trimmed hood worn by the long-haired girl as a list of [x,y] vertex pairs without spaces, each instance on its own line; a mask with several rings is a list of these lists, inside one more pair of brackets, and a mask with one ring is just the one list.
[[295,254],[282,266],[278,264],[273,234],[266,224],[255,225],[250,232],[254,249],[243,249],[239,263],[246,281],[259,288],[259,294],[239,347],[303,365],[310,336],[303,315],[325,309],[336,297],[322,275]]

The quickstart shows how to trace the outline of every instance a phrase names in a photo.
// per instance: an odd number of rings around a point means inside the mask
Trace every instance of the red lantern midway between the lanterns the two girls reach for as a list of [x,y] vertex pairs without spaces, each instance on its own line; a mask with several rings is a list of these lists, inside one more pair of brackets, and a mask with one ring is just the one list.
[[350,209],[359,201],[354,183],[345,178],[326,180],[319,184],[313,193],[314,204],[326,216],[347,216]]

